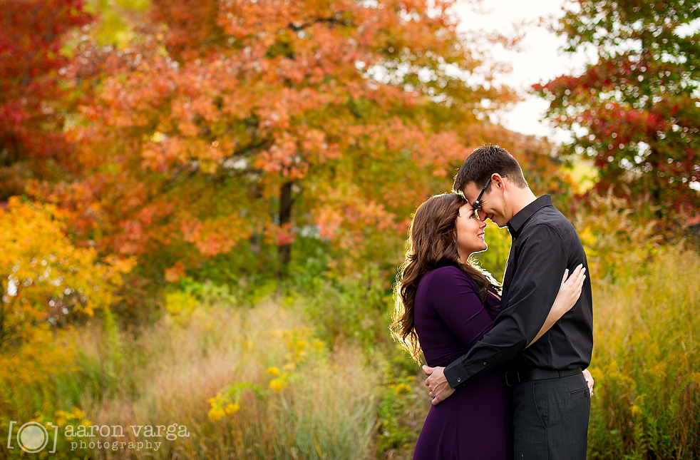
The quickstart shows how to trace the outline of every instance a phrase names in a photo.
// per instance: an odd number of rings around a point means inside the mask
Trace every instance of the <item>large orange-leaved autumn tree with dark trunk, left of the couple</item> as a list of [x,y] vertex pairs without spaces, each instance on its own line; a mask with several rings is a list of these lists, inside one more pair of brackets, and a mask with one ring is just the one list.
[[398,254],[477,143],[463,128],[511,98],[480,76],[451,3],[154,1],[69,132],[88,173],[35,192],[151,277],[227,254],[260,270],[266,247],[284,272],[299,237],[339,261]]

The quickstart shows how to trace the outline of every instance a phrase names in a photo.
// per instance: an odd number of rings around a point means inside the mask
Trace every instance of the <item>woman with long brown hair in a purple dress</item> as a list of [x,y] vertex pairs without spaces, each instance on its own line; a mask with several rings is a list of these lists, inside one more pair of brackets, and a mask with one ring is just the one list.
[[[499,288],[469,262],[486,250],[486,223],[460,195],[436,195],[416,210],[406,261],[396,285],[393,334],[418,361],[446,366],[490,329],[498,316]],[[535,340],[575,304],[581,267],[562,287]],[[510,412],[503,372],[487,372],[432,406],[413,459],[507,459]]]

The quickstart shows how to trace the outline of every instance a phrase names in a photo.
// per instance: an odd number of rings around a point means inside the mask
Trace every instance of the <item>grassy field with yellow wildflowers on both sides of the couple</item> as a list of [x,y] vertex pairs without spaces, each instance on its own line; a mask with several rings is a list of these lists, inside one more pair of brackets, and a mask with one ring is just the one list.
[[[700,458],[699,255],[666,248],[593,282],[590,458]],[[254,305],[172,292],[138,334],[107,315],[38,337],[0,357],[3,454],[21,458],[37,421],[58,426],[39,458],[54,439],[58,459],[411,458],[429,403],[388,339],[391,296],[344,285]]]

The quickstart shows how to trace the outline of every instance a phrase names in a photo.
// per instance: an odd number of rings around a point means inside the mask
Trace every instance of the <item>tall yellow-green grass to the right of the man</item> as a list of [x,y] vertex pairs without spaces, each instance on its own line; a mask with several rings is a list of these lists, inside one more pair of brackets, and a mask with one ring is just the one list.
[[593,283],[590,458],[700,458],[700,256],[670,247]]

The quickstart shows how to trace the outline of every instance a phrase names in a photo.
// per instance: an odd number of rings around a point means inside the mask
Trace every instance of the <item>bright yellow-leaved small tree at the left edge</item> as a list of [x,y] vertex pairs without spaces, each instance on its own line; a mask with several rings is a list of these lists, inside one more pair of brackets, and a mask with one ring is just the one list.
[[130,260],[75,247],[53,205],[9,200],[0,210],[0,353],[48,327],[108,309]]

